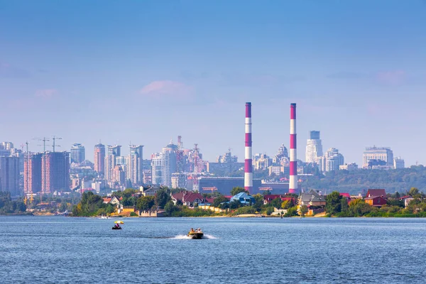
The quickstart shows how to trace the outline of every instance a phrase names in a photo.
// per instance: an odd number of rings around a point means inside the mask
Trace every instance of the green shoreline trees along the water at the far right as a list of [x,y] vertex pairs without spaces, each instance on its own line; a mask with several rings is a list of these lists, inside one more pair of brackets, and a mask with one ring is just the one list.
[[417,188],[412,187],[408,195],[413,197],[404,207],[400,194],[388,194],[386,204],[381,207],[373,207],[362,199],[351,200],[348,204],[346,197],[339,192],[332,192],[326,197],[325,210],[327,216],[335,217],[426,217],[426,195]]

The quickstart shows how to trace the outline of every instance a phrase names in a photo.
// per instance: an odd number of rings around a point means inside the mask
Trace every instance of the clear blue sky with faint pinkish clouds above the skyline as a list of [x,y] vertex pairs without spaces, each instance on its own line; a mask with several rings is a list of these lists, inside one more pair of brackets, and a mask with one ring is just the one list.
[[387,146],[426,163],[426,1],[0,0],[0,141],[60,151],[182,136],[204,159],[289,148],[310,130],[361,164]]

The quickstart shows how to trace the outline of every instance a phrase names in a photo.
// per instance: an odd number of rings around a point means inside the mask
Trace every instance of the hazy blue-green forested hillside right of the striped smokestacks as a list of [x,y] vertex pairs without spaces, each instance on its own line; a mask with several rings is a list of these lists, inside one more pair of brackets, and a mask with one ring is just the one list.
[[384,188],[386,192],[406,192],[417,187],[426,192],[426,168],[422,165],[398,170],[339,170],[326,175],[308,177],[302,182],[303,189],[315,189],[332,192],[361,193],[368,188]]

